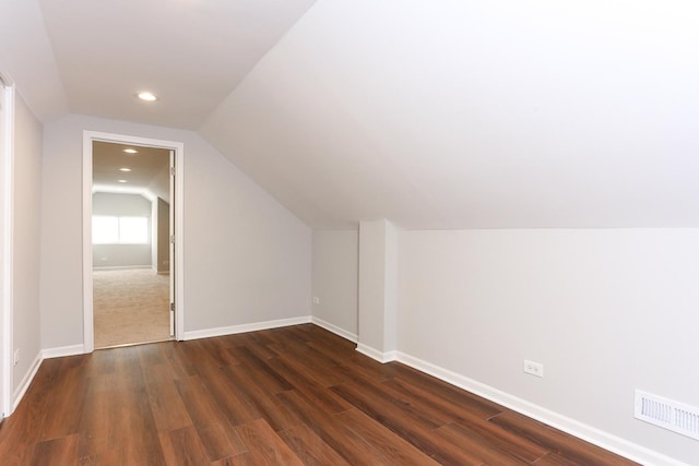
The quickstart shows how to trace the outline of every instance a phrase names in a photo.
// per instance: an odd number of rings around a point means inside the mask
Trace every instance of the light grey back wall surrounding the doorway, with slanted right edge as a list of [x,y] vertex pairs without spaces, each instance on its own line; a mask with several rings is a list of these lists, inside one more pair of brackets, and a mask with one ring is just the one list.
[[310,228],[228,159],[190,131],[70,115],[44,131],[44,348],[83,342],[83,130],[185,144],[185,332],[310,314]]

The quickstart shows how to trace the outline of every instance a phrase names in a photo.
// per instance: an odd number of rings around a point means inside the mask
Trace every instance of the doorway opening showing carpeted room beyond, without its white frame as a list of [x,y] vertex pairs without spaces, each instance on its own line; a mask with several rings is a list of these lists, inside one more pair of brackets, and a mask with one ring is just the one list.
[[171,339],[170,151],[92,143],[95,348]]

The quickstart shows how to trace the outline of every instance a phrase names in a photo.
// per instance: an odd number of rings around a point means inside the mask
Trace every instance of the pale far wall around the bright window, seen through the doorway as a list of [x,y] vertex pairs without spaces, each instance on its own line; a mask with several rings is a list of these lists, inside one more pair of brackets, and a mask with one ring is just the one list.
[[149,242],[145,244],[93,244],[93,267],[129,267],[152,265],[153,226],[151,201],[140,194],[96,192],[92,195],[92,214],[116,217],[146,217]]

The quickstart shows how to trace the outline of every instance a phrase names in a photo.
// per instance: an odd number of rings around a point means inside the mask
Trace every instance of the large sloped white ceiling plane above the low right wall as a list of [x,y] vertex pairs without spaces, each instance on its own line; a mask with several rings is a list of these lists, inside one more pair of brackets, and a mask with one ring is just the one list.
[[311,225],[699,226],[699,8],[319,1],[201,128]]

